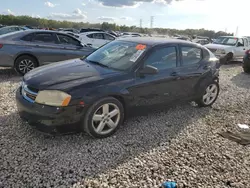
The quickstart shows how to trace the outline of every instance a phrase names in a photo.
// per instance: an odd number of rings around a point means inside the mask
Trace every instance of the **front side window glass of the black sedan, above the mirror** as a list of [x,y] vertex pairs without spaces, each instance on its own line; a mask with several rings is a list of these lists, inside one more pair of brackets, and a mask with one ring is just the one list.
[[151,65],[159,70],[175,68],[177,53],[175,47],[163,47],[155,49],[145,61],[145,65]]

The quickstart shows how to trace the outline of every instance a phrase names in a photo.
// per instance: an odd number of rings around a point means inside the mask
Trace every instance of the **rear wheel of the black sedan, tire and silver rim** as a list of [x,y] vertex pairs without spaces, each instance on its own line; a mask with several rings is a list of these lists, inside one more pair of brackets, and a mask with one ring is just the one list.
[[[212,87],[214,89],[211,91]],[[210,90],[209,94],[208,94],[208,90]],[[195,102],[198,104],[199,107],[212,106],[214,102],[217,100],[219,92],[220,92],[219,83],[214,80],[210,84],[207,85],[207,87],[204,89],[202,96],[199,99],[197,99]],[[205,100],[204,98],[205,95],[207,95],[207,98],[209,98],[209,101]]]

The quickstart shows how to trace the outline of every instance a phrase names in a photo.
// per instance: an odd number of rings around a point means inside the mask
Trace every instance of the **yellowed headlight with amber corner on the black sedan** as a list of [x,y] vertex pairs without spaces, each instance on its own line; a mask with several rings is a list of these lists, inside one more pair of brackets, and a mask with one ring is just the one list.
[[49,106],[68,106],[71,95],[57,90],[39,91],[36,97],[36,103]]

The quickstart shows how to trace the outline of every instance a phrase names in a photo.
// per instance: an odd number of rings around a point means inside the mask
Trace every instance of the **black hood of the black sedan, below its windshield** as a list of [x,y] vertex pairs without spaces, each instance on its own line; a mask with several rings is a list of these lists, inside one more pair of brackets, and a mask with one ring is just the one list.
[[24,82],[38,90],[64,90],[87,82],[102,80],[114,74],[121,74],[121,72],[89,64],[81,59],[73,59],[36,68],[24,76]]

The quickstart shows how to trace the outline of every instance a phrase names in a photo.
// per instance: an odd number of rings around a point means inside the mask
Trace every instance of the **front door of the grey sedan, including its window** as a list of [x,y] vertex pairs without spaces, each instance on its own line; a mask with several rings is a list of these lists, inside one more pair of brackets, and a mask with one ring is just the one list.
[[67,59],[74,59],[90,54],[93,49],[81,45],[81,42],[71,36],[64,34],[56,34],[58,45],[64,51]]

